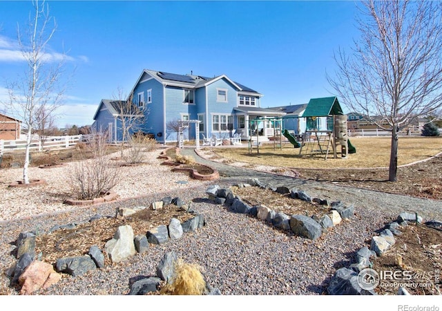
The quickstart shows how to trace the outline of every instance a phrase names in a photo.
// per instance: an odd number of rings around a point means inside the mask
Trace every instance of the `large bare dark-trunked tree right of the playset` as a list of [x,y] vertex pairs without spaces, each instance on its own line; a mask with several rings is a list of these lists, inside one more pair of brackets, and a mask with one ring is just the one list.
[[338,70],[327,78],[344,104],[391,131],[396,181],[398,133],[442,104],[442,3],[367,0],[359,9],[361,37],[350,55],[335,53]]

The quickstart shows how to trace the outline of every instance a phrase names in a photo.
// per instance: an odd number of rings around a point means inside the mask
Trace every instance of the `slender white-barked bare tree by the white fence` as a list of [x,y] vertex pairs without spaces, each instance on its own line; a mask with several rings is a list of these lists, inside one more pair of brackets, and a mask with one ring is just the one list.
[[[27,70],[17,82],[7,82],[9,104],[26,128],[26,151],[23,165],[23,183],[29,183],[30,144],[32,134],[39,120],[39,111],[52,113],[61,104],[64,89],[59,85],[61,68],[65,56],[57,55],[57,60],[46,52],[48,43],[57,29],[57,24],[49,16],[49,8],[38,0],[32,2],[34,11],[29,17],[26,35],[17,29],[19,47],[26,61]],[[53,26],[52,26],[53,23]],[[54,65],[55,64],[55,65]]]

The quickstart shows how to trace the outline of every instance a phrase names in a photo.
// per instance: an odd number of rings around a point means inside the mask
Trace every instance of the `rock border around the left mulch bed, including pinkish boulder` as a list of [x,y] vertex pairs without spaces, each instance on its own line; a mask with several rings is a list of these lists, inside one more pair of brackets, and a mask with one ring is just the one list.
[[[193,218],[186,220],[184,223],[180,223],[180,220],[171,218],[168,225],[159,225],[146,232],[145,235],[133,236],[133,229],[130,225],[120,226],[117,229],[113,239],[108,241],[104,246],[104,250],[99,249],[97,245],[90,247],[88,254],[84,256],[59,258],[55,265],[55,271],[59,273],[70,274],[71,276],[80,276],[90,270],[101,269],[104,267],[104,256],[108,256],[113,263],[118,263],[126,260],[136,253],[144,254],[148,252],[149,243],[162,244],[169,241],[169,239],[177,240],[182,237],[184,232],[193,232],[206,225],[206,219],[204,215],[198,214],[193,211],[189,206],[184,205],[181,198],[163,198],[161,202],[170,202],[169,204],[175,204],[181,207],[184,211],[194,215]],[[149,208],[149,207],[137,207],[137,210]],[[102,218],[103,216],[97,214],[90,218],[87,222],[93,222]],[[46,232],[50,234],[56,230],[63,228],[75,228],[78,224],[70,223],[68,225],[56,225]],[[35,254],[35,238],[38,232],[21,232],[15,245],[15,257],[17,262],[10,267],[6,274],[11,279],[11,285],[23,285],[25,282],[35,283],[34,281],[26,281],[20,278],[26,268],[34,262],[39,262],[39,256]],[[103,254],[104,253],[104,254]],[[46,273],[46,272],[45,272]],[[34,272],[32,278],[39,278],[38,272]],[[46,275],[47,278],[47,275]],[[23,280],[22,280],[23,279]],[[148,282],[150,284],[150,282]],[[154,282],[159,284],[159,282]],[[35,287],[30,292],[26,290],[26,294],[31,294],[39,288],[43,287],[44,282],[39,287]],[[144,285],[142,286],[144,288]],[[148,285],[148,288],[157,288],[157,285]],[[131,290],[132,292],[132,290]],[[137,291],[139,292],[139,291]]]

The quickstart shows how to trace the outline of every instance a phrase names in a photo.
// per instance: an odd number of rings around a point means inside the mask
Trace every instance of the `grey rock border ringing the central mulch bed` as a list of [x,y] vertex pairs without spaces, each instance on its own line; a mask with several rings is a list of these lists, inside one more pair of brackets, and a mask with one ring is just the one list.
[[348,207],[343,202],[336,201],[329,204],[327,200],[321,198],[311,198],[305,191],[298,191],[289,187],[272,187],[264,185],[258,178],[249,178],[247,183],[238,184],[237,187],[260,187],[262,189],[270,189],[278,194],[290,194],[295,200],[304,200],[306,202],[316,202],[319,205],[329,207],[329,211],[323,215],[305,216],[305,215],[286,215],[277,212],[264,205],[250,206],[243,202],[240,197],[234,196],[231,189],[220,188],[219,185],[211,185],[206,189],[206,195],[213,200],[215,204],[225,205],[231,211],[239,214],[249,214],[260,220],[265,221],[269,225],[273,225],[278,229],[293,232],[296,236],[315,240],[321,234],[327,231],[327,228],[338,225],[342,219],[350,218],[354,215],[354,206]]

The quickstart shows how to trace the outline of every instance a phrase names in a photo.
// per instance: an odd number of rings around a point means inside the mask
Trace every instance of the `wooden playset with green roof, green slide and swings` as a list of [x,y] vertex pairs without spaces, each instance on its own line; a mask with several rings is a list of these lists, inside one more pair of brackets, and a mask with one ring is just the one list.
[[[347,135],[347,115],[343,114],[337,97],[324,97],[311,99],[301,117],[305,117],[306,129],[302,135],[293,135],[289,130],[282,130],[284,120],[293,117],[273,117],[256,118],[249,120],[249,153],[256,148],[259,153],[260,135],[258,135],[258,122],[270,122],[273,126],[273,149],[276,150],[279,141],[279,147],[282,149],[282,135],[294,145],[294,148],[300,149],[300,156],[323,156],[325,160],[332,152],[333,157],[347,158],[350,153],[356,153],[356,148],[348,139]],[[273,123],[272,123],[273,122]],[[298,122],[299,124],[299,122]],[[278,126],[276,126],[278,125]],[[294,131],[292,131],[294,132]],[[338,150],[340,147],[340,150]]]

